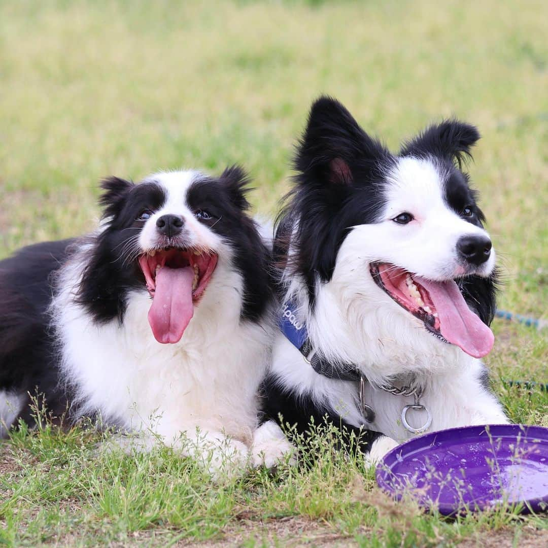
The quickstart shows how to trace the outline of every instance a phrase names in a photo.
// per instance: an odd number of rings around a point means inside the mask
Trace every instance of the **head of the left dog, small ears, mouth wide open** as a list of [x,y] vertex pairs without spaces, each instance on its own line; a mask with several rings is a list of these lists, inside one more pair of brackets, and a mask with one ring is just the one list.
[[269,292],[267,254],[246,213],[246,185],[238,167],[219,178],[182,171],[139,184],[102,181],[104,221],[80,300],[107,321],[122,318],[129,290],[148,291],[160,343],[181,339],[208,292],[222,308],[223,288],[241,296],[244,318],[259,317]]

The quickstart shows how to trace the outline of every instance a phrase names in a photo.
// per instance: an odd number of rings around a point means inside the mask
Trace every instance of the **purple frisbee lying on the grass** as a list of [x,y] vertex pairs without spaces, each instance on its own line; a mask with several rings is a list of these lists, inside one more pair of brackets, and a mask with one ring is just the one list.
[[548,428],[465,426],[410,439],[376,469],[379,487],[443,515],[518,504],[548,509]]

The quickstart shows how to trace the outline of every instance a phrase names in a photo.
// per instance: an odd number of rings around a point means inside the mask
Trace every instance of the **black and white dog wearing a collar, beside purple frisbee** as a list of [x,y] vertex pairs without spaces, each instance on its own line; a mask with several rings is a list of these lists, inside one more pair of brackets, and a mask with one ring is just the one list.
[[286,450],[280,416],[300,433],[311,416],[361,432],[372,460],[416,433],[507,422],[479,360],[495,252],[461,169],[478,139],[446,121],[395,155],[338,101],[312,106],[275,237],[283,332],[262,447]]

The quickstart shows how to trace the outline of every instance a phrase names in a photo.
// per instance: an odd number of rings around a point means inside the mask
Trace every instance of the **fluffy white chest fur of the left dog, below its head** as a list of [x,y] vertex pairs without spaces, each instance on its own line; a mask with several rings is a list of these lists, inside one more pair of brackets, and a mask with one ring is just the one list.
[[63,378],[76,389],[73,412],[100,413],[108,423],[151,431],[168,444],[199,429],[249,445],[269,330],[241,322],[239,294],[217,287],[238,280],[227,273],[212,282],[180,343],[161,344],[147,321],[151,300],[144,291],[130,293],[122,324],[93,323],[72,300],[77,270],[67,269],[54,305]]

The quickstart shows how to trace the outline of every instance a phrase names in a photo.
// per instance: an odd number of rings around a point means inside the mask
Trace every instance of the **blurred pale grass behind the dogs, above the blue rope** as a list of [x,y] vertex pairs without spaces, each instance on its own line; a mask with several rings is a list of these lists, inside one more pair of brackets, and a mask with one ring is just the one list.
[[456,115],[507,271],[548,300],[545,2],[0,2],[0,256],[89,230],[96,181],[239,162],[263,213],[329,93],[396,149]]

